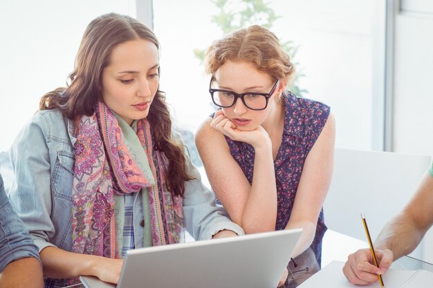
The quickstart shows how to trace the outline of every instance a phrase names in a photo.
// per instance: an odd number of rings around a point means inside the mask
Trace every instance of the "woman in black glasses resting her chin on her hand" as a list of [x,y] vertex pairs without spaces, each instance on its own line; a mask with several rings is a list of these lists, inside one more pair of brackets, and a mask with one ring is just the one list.
[[215,41],[205,65],[220,109],[196,133],[209,182],[246,233],[303,229],[286,271],[286,287],[295,287],[320,268],[335,141],[330,108],[285,90],[293,64],[261,26]]

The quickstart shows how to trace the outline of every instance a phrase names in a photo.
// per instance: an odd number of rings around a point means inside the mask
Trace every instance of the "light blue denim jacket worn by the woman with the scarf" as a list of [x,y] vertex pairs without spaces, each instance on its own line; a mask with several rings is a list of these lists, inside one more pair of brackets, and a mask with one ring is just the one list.
[[[39,111],[24,126],[10,148],[15,180],[10,187],[10,201],[26,223],[39,251],[55,246],[72,250],[72,186],[75,162],[75,124],[57,109]],[[196,240],[210,239],[223,229],[243,234],[228,213],[214,204],[214,195],[196,177],[185,183],[183,214],[185,228]],[[141,193],[138,193],[141,197]],[[133,231],[143,239],[142,202],[134,202]],[[141,248],[142,242],[136,242]],[[46,287],[58,287],[46,285]]]

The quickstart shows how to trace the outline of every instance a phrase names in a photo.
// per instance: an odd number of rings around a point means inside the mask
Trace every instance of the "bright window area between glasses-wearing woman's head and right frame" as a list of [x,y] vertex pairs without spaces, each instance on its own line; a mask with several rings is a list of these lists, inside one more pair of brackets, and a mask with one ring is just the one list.
[[[331,106],[337,121],[336,145],[373,147],[376,0],[275,1],[284,15],[279,37],[299,45],[296,61],[306,97]],[[385,31],[383,31],[385,32]],[[380,52],[382,52],[380,50]],[[380,102],[380,100],[379,100]]]

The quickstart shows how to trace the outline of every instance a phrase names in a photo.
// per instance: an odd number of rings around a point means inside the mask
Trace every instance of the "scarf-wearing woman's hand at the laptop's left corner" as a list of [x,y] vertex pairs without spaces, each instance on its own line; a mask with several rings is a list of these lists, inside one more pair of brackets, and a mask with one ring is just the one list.
[[120,278],[120,272],[122,271],[123,260],[112,259],[105,257],[98,257],[98,260],[93,265],[93,273],[100,280],[104,282],[110,282],[117,284]]

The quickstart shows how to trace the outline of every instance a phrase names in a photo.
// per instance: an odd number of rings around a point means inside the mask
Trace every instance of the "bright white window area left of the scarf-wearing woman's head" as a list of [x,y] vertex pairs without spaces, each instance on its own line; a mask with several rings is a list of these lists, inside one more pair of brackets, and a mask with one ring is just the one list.
[[136,0],[0,1],[0,151],[44,93],[65,86],[84,29],[106,12],[136,16]]

